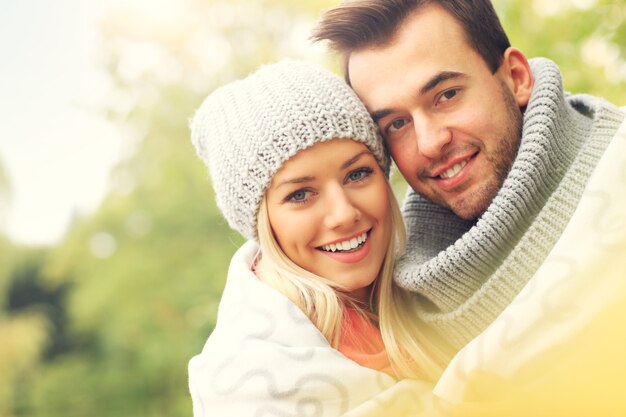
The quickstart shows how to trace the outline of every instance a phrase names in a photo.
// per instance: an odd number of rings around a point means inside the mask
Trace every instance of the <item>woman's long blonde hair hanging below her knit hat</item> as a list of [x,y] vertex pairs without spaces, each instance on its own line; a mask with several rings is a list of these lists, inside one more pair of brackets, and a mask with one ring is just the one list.
[[344,306],[378,321],[383,342],[396,374],[402,378],[435,381],[450,359],[443,340],[412,314],[412,295],[393,283],[396,258],[404,252],[406,232],[402,214],[387,183],[391,214],[391,237],[378,277],[370,291],[369,306],[363,306],[333,281],[296,265],[276,241],[265,197],[258,213],[257,232],[261,279],[285,295],[320,330],[334,348],[339,344]]

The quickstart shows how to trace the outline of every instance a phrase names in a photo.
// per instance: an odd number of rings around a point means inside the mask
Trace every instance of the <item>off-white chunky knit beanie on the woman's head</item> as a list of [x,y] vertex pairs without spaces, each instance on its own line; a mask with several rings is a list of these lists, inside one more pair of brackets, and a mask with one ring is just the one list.
[[389,173],[388,155],[361,101],[343,80],[311,63],[265,65],[218,88],[196,112],[191,131],[217,206],[248,239],[257,236],[259,205],[272,177],[303,149],[353,139]]

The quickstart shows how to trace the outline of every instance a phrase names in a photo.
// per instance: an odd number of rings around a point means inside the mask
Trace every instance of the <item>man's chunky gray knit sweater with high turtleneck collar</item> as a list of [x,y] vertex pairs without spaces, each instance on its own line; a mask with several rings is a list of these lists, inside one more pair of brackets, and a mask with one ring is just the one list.
[[396,282],[420,318],[460,347],[485,329],[537,271],[624,119],[610,103],[563,92],[557,66],[531,60],[535,86],[520,149],[487,211],[464,221],[410,191],[409,240]]

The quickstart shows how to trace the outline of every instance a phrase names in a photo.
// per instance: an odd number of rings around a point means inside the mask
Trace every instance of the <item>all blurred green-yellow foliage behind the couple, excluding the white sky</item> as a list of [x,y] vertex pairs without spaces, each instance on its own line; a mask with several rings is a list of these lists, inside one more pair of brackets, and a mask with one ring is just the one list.
[[[332,65],[307,38],[335,3],[185,0],[165,15],[119,6],[103,20],[102,65],[114,86],[103,111],[126,129],[132,152],[97,212],[75,219],[56,247],[0,237],[1,416],[191,415],[186,364],[213,328],[242,239],[214,205],[189,118],[208,92],[260,64]],[[495,4],[512,43],[557,61],[568,90],[626,104],[626,6],[583,3],[593,7]],[[610,56],[594,60],[598,48]]]

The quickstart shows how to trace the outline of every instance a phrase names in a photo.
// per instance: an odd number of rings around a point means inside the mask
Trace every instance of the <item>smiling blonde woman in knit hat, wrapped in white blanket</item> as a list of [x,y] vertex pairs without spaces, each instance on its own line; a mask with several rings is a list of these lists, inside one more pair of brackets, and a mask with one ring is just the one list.
[[283,61],[213,92],[192,123],[218,207],[249,239],[189,363],[194,415],[340,415],[433,381],[439,341],[392,284],[404,225],[389,158],[338,77]]

